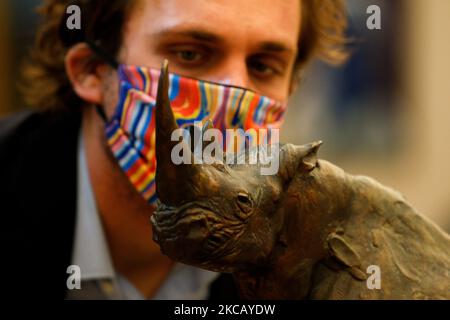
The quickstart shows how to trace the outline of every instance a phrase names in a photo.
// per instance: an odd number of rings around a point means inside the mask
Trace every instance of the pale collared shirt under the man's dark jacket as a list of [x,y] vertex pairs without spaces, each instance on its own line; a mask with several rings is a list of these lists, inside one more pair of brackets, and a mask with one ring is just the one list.
[[[123,275],[114,270],[91,188],[81,133],[78,141],[78,199],[72,264],[80,268],[81,289],[68,290],[67,298],[144,299]],[[209,285],[218,275],[176,263],[153,299],[206,299]]]

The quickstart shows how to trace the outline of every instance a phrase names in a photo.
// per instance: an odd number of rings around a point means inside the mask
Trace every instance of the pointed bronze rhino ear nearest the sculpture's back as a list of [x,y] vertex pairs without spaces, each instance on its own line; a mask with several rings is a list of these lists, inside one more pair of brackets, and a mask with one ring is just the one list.
[[292,179],[297,172],[310,172],[317,166],[317,151],[322,141],[315,141],[302,146],[285,144],[281,151],[280,176]]

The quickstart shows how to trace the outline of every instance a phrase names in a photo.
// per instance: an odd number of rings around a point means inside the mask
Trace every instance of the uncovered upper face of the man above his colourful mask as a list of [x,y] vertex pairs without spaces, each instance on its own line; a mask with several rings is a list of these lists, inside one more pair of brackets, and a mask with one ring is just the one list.
[[[299,32],[299,0],[137,0],[119,62],[159,68],[166,58],[171,72],[285,100]],[[105,107],[112,114],[115,101]]]

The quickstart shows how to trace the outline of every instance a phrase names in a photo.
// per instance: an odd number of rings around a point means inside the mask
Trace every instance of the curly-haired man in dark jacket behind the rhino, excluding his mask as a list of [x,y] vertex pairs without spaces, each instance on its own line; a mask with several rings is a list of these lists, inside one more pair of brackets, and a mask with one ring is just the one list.
[[[81,8],[81,30],[66,27],[73,4]],[[136,192],[105,136],[105,121],[120,105],[116,63],[158,68],[166,58],[184,77],[284,101],[311,58],[345,58],[342,2],[49,0],[40,13],[24,88],[40,110],[0,123],[6,291],[236,297],[228,275],[176,264],[151,240],[153,206]],[[68,290],[70,265],[80,267],[81,289]]]

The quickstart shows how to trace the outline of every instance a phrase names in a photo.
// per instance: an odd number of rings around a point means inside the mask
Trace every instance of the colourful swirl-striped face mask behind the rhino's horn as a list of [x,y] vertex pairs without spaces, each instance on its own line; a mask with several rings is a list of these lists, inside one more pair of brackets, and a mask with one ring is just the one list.
[[[108,145],[136,190],[156,200],[155,103],[160,71],[120,65],[119,102],[106,123]],[[169,74],[169,98],[179,127],[210,119],[215,128],[278,128],[286,104],[253,91]]]

